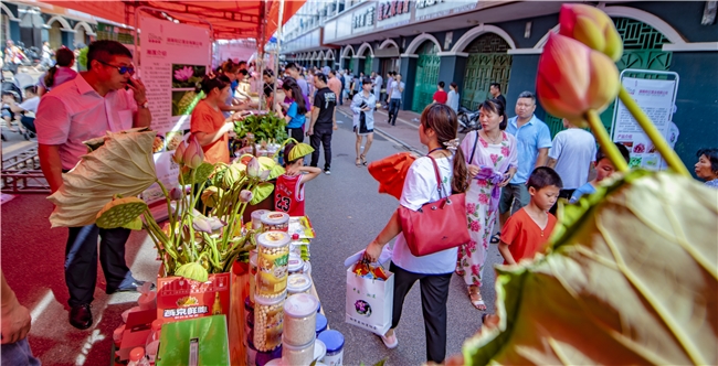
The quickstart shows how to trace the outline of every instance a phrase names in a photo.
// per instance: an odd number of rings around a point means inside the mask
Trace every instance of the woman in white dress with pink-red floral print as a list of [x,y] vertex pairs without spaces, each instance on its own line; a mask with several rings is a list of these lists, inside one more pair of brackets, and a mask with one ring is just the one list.
[[516,138],[504,132],[508,120],[504,108],[496,99],[484,101],[479,107],[482,129],[467,134],[461,144],[472,177],[466,192],[472,240],[458,248],[456,273],[464,277],[472,304],[478,310],[486,310],[479,287],[500,187],[508,184],[518,166]]

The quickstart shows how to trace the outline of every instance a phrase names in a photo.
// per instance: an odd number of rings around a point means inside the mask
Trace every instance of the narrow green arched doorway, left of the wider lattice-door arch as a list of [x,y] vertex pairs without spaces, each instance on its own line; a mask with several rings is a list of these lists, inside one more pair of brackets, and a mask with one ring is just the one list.
[[439,84],[439,67],[441,57],[439,46],[431,40],[424,41],[416,51],[416,84],[411,110],[421,112],[433,101],[434,92]]

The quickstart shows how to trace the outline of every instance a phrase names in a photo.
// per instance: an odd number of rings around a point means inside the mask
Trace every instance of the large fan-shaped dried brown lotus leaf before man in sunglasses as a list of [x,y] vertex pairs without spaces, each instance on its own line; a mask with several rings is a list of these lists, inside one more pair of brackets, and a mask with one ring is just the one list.
[[109,133],[97,150],[83,155],[73,170],[63,174],[63,185],[47,200],[55,205],[52,227],[85,226],[115,194],[131,197],[157,180],[152,143],[155,131]]

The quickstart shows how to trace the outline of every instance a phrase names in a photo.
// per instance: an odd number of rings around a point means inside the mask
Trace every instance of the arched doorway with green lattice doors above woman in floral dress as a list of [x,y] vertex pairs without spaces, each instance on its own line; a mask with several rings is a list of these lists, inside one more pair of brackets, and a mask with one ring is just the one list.
[[460,90],[462,106],[474,110],[490,98],[488,89],[492,83],[498,83],[501,94],[506,94],[511,72],[511,55],[506,53],[509,49],[506,40],[496,33],[484,33],[464,49],[468,60],[464,71],[464,90]]

